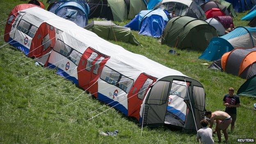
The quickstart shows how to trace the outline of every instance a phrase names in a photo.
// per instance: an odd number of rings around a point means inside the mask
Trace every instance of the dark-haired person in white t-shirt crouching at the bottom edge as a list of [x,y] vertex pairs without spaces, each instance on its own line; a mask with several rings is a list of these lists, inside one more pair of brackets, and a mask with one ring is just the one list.
[[213,130],[211,128],[207,128],[208,121],[203,119],[200,123],[203,128],[197,131],[197,142],[199,142],[200,139],[201,144],[213,144]]

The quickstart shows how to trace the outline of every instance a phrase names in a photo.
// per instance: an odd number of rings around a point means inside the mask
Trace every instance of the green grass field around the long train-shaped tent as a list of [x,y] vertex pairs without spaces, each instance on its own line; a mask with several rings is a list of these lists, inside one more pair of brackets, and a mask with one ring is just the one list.
[[[28,62],[31,59],[23,57],[23,53],[16,48],[3,46],[6,44],[2,37],[4,22],[11,9],[22,2],[0,0],[0,143],[196,143],[195,135],[171,131],[165,127],[145,127],[141,137],[139,123],[124,117],[113,108],[88,121],[110,107],[103,107],[103,103],[83,93],[82,89],[54,75],[54,70],[35,66],[34,61]],[[247,25],[247,21],[240,21],[245,14],[240,13],[234,18],[235,26]],[[119,25],[126,23],[128,21]],[[197,59],[201,52],[169,48],[159,44],[156,39],[133,33],[143,47],[111,42],[199,80],[206,91],[207,110],[224,110],[222,98],[227,89],[234,87],[237,90],[245,82],[238,76],[207,69],[201,63],[210,62]],[[180,56],[169,55],[169,49],[176,50]],[[10,64],[16,59],[16,62]],[[25,62],[28,63],[23,64]],[[25,78],[32,73],[36,74]],[[37,90],[41,87],[45,88]],[[80,94],[82,95],[79,96]],[[74,100],[75,98],[77,99]],[[228,130],[229,143],[235,143],[237,138],[256,138],[256,111],[252,107],[256,99],[241,96],[240,101],[235,130],[233,133]],[[90,113],[98,108],[100,109]],[[116,137],[99,134],[100,131],[116,129],[119,130]],[[213,139],[217,142],[217,135]],[[224,140],[223,135],[222,139]]]

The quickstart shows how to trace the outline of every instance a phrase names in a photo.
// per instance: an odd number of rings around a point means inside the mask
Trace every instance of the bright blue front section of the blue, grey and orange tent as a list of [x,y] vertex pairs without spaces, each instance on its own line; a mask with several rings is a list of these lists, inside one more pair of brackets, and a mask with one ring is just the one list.
[[211,39],[206,50],[198,58],[208,61],[215,61],[220,59],[224,53],[233,49],[233,46],[226,39],[215,37]]

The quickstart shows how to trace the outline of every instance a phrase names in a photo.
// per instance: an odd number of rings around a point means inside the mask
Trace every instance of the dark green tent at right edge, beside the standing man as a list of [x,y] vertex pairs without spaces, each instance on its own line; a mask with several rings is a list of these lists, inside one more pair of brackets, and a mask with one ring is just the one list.
[[238,89],[237,94],[239,96],[252,96],[256,97],[256,75],[249,78],[242,86]]

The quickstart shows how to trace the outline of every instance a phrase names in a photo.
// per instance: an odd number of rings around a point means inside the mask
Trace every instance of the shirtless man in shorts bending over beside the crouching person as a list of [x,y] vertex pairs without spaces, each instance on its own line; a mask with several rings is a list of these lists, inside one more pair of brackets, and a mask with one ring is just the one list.
[[209,128],[213,127],[213,123],[216,120],[217,124],[216,124],[215,131],[217,132],[217,136],[218,136],[218,139],[219,139],[218,142],[221,142],[220,130],[223,131],[225,140],[227,142],[228,141],[227,128],[229,127],[229,124],[232,122],[231,116],[229,114],[227,114],[226,112],[222,112],[222,111],[215,111],[215,112],[206,111],[205,116],[210,119]]

